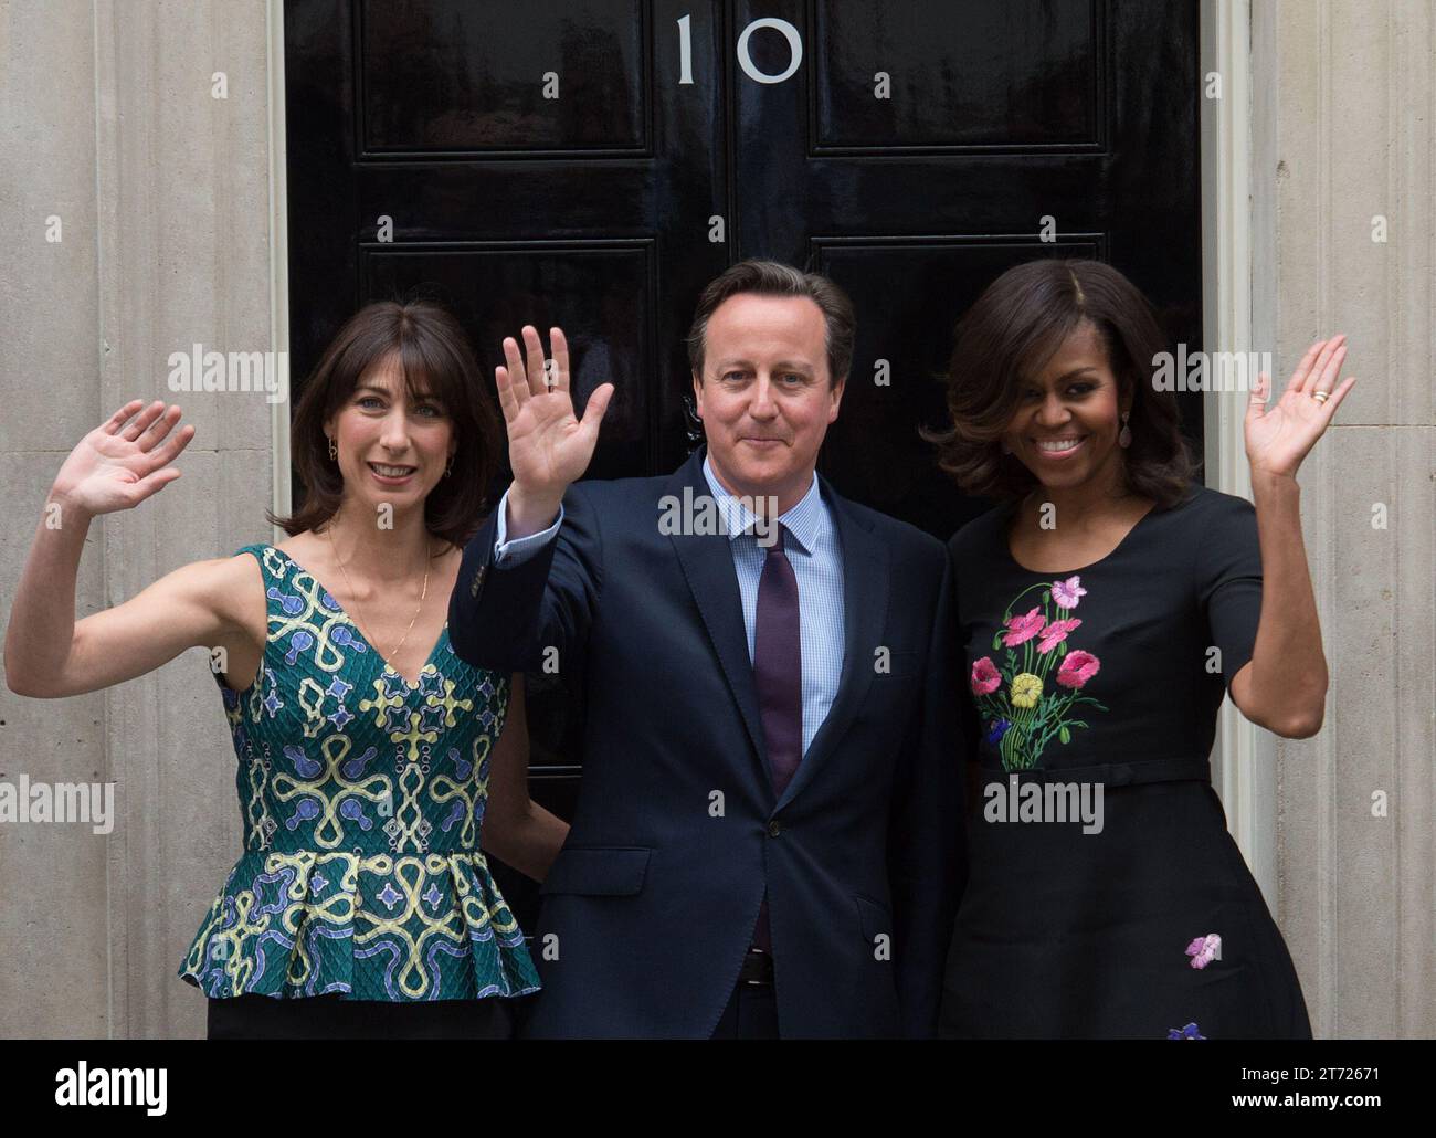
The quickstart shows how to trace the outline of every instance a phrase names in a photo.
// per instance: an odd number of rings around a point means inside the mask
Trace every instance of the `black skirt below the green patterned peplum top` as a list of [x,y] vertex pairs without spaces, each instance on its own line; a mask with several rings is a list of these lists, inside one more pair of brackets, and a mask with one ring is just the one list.
[[510,1039],[514,1012],[500,997],[386,1003],[339,994],[210,1000],[208,1039]]

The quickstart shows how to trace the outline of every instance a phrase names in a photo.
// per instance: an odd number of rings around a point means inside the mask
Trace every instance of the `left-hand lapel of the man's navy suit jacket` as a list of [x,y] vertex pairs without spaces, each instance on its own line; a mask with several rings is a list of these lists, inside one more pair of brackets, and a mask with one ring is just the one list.
[[[666,494],[679,501],[688,487],[692,497],[712,497],[708,480],[704,478],[704,450],[699,448],[668,480]],[[656,520],[655,520],[656,524]],[[763,737],[763,718],[758,711],[758,690],[752,678],[752,661],[748,658],[748,631],[742,622],[742,599],[738,595],[738,575],[732,568],[732,550],[728,536],[717,535],[671,535],[678,563],[682,566],[688,588],[698,605],[712,641],[724,678],[732,693],[738,711],[742,714],[748,739],[758,756],[760,773],[768,780],[768,749]]]

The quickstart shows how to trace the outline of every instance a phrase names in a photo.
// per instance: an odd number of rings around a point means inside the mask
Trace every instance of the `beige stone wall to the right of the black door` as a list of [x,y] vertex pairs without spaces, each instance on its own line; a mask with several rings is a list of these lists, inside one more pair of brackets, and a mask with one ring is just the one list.
[[1256,325],[1284,372],[1346,332],[1357,376],[1301,473],[1325,727],[1275,746],[1278,920],[1328,1037],[1436,1036],[1433,59],[1429,0],[1252,7]]

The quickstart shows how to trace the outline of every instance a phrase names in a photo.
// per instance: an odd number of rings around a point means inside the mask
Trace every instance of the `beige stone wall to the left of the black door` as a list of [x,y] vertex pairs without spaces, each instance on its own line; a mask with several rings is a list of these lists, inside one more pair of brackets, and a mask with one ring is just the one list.
[[[197,432],[180,480],[92,524],[79,615],[270,535],[264,397],[167,384],[194,342],[270,348],[267,53],[258,0],[0,4],[0,612],[63,457],[131,398]],[[78,698],[0,690],[0,777],[116,783],[108,838],[0,826],[0,1033],[201,1036],[175,970],[240,848],[205,655]]]

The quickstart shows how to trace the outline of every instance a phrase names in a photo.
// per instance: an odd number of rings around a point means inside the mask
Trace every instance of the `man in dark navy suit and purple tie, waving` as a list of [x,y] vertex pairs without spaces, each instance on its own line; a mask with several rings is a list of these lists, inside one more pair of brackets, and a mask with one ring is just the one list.
[[[551,329],[497,369],[514,483],[470,543],[449,639],[503,672],[582,661],[583,785],[531,930],[536,1036],[929,1036],[962,881],[943,546],[814,473],[853,312],[771,262],[705,290],[707,447],[577,483]],[[551,670],[551,668],[550,668]]]

